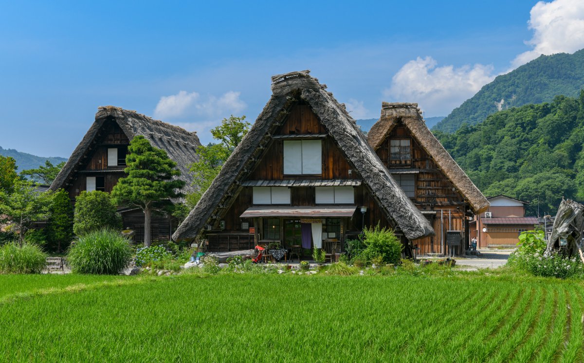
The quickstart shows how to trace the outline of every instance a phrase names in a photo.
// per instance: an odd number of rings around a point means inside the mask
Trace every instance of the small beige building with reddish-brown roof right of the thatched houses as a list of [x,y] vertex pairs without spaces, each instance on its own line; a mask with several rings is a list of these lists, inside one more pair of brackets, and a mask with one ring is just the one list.
[[503,196],[487,198],[489,208],[470,222],[471,238],[477,247],[515,247],[519,233],[537,225],[536,217],[525,217],[525,201]]

